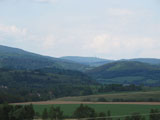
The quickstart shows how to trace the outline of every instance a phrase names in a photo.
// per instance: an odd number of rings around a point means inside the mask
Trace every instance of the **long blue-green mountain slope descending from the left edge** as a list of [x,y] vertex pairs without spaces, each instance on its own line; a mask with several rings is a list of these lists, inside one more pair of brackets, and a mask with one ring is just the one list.
[[44,67],[55,67],[61,69],[80,70],[88,68],[68,60],[42,56],[27,52],[18,48],[11,48],[0,45],[0,68],[14,69],[38,69]]

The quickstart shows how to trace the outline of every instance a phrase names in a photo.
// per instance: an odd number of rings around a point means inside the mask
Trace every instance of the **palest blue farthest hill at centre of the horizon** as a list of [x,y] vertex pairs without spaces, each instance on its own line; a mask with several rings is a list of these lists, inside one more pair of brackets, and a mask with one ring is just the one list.
[[92,67],[101,66],[114,61],[114,60],[107,60],[107,59],[102,59],[97,57],[80,57],[80,56],[65,56],[65,57],[61,57],[61,59],[70,60],[76,63],[89,65]]

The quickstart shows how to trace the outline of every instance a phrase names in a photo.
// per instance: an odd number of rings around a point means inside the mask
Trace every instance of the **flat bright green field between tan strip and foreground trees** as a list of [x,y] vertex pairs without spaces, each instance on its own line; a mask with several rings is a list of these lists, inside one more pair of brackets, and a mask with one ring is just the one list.
[[[113,116],[118,115],[129,115],[134,112],[139,112],[141,114],[146,114],[150,112],[150,109],[159,109],[160,105],[126,105],[126,104],[87,104],[88,106],[94,108],[97,112],[106,112],[108,110],[111,111]],[[49,109],[51,105],[34,105],[34,109],[36,112],[42,113],[44,108]],[[73,111],[79,106],[79,104],[60,104],[54,105],[60,106],[64,111],[65,116],[71,116]]]

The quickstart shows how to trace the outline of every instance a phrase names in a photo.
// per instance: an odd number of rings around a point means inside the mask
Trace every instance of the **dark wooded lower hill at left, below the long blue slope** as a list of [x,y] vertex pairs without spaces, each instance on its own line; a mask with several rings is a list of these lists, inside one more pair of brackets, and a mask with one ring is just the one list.
[[94,84],[96,81],[87,75],[72,70],[0,69],[0,103],[88,95],[91,89],[87,86]]

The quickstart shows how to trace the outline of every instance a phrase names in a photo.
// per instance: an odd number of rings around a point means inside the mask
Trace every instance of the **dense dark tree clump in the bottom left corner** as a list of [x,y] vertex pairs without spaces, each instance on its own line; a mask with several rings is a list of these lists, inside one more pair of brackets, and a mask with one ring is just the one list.
[[32,105],[0,106],[0,120],[33,120],[35,111]]

